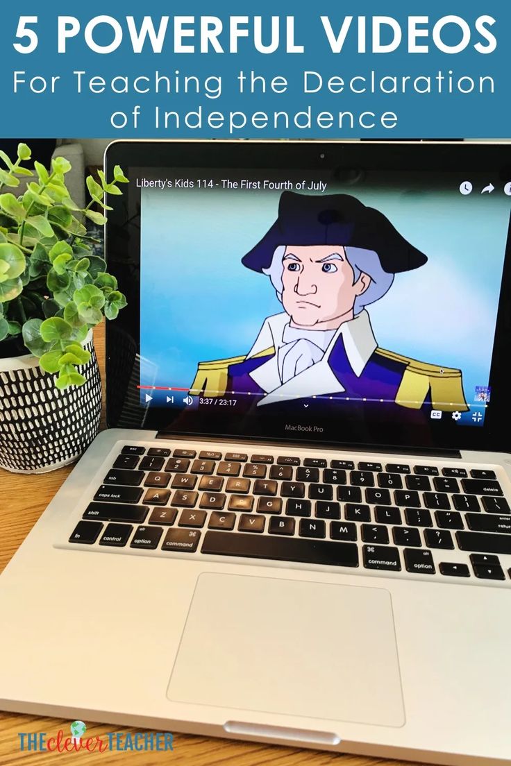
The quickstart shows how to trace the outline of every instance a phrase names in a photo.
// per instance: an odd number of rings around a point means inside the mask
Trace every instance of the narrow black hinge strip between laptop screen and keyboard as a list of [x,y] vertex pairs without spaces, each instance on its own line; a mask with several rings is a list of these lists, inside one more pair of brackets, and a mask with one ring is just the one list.
[[385,455],[410,455],[410,456],[421,456],[421,457],[435,457],[435,458],[450,458],[451,460],[453,458],[461,458],[460,450],[441,450],[441,449],[431,449],[430,447],[399,447],[395,445],[380,445],[380,444],[317,444],[317,442],[306,442],[306,441],[280,441],[280,440],[272,440],[272,439],[257,439],[257,437],[253,438],[247,438],[242,436],[232,436],[232,437],[219,437],[215,436],[215,434],[208,434],[208,436],[198,436],[197,434],[172,434],[172,432],[169,431],[159,431],[158,434],[156,434],[157,439],[172,439],[172,440],[183,440],[183,441],[198,441],[198,442],[204,442],[205,444],[211,444],[211,442],[215,442],[215,444],[232,444],[233,442],[236,442],[237,444],[252,444],[261,446],[264,445],[266,447],[270,447],[272,450],[277,450],[279,447],[287,447],[288,449],[290,447],[294,447],[296,450],[317,450],[318,452],[325,452],[328,450],[329,452],[354,452],[354,453],[384,453]]

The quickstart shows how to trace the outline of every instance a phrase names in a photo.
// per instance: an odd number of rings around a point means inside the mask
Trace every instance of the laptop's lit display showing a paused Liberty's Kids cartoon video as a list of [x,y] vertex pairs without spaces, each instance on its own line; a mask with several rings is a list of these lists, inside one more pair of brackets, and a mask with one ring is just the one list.
[[483,428],[511,177],[138,165],[129,178],[139,408],[247,437],[424,445]]

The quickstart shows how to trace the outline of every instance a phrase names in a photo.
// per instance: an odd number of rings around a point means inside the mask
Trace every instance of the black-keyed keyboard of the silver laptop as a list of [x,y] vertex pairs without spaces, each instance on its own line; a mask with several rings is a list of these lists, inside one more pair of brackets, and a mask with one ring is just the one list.
[[496,473],[441,463],[128,444],[69,542],[511,583]]

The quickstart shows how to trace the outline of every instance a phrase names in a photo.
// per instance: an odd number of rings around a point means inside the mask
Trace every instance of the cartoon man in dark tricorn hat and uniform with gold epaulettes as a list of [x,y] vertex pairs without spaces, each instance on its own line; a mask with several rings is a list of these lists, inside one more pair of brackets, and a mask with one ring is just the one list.
[[192,394],[246,394],[257,407],[311,397],[467,411],[461,372],[378,348],[366,306],[427,257],[350,195],[284,191],[277,221],[242,258],[270,278],[283,312],[247,355],[201,362]]

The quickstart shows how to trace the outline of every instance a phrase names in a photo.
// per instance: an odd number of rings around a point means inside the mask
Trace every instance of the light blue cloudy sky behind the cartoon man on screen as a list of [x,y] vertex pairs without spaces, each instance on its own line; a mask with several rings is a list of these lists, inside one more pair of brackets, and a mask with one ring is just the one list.
[[[443,191],[419,189],[410,178],[393,190],[329,185],[327,193],[378,208],[427,254],[424,267],[396,275],[369,307],[372,326],[383,348],[461,368],[470,404],[489,378],[511,198],[503,184],[480,195],[488,179],[467,177],[474,185],[467,197],[457,177]],[[141,353],[152,362],[142,383],[192,385],[198,362],[246,353],[264,318],[282,310],[269,278],[241,265],[277,217],[279,198],[280,191],[142,191]]]

